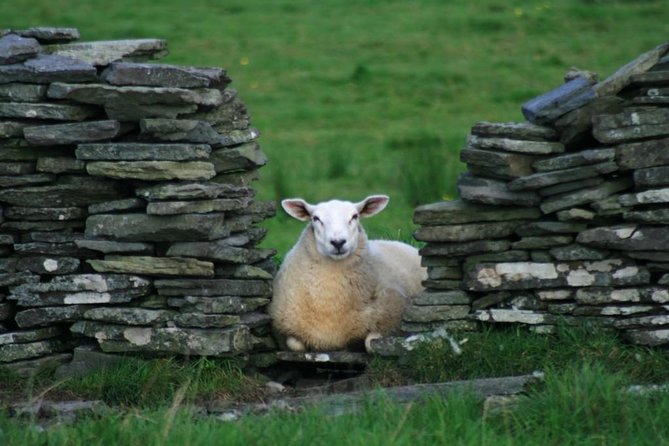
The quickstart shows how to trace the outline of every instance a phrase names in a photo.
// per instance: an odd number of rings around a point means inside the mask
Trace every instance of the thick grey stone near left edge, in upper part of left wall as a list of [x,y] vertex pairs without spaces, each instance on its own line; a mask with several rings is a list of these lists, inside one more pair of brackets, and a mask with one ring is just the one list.
[[37,146],[101,141],[121,134],[118,121],[86,121],[74,124],[41,125],[23,129],[26,141]]

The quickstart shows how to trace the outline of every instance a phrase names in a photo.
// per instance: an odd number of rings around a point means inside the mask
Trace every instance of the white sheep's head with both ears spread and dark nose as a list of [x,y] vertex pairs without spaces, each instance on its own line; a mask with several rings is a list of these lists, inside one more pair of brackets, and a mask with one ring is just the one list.
[[311,222],[318,252],[334,260],[345,259],[358,248],[360,218],[378,214],[387,204],[385,195],[372,195],[359,203],[331,200],[312,205],[301,198],[281,202],[288,215]]

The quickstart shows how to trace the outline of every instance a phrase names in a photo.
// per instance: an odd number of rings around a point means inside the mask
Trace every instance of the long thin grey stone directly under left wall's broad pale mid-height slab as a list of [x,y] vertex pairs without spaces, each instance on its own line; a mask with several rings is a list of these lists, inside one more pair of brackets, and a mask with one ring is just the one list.
[[238,187],[226,183],[163,183],[141,187],[137,196],[148,201],[156,200],[198,200],[219,197],[252,197],[253,191],[247,187]]

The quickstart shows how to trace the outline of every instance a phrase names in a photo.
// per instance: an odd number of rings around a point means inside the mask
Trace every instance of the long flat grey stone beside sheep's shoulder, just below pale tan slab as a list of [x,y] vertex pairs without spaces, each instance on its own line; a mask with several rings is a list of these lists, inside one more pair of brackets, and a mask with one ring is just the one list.
[[161,296],[268,297],[271,283],[264,280],[159,279],[154,286]]

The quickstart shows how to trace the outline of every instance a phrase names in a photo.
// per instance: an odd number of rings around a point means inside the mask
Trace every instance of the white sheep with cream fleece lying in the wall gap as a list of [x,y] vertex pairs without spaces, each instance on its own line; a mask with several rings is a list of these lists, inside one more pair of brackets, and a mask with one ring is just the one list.
[[399,328],[426,271],[414,247],[367,239],[360,218],[387,204],[384,195],[359,203],[281,202],[290,216],[310,222],[277,273],[269,306],[290,350],[337,350],[362,340],[369,350],[372,339]]

